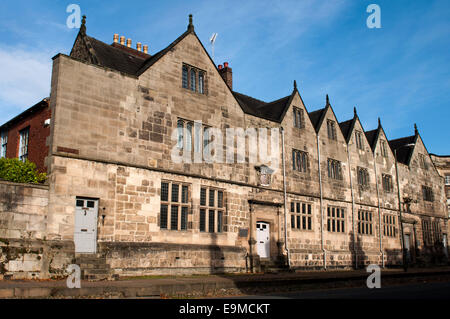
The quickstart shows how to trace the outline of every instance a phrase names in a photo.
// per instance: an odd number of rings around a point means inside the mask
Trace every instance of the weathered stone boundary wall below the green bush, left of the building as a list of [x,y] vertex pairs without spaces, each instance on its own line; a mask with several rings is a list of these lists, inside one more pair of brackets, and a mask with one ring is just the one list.
[[0,278],[61,277],[73,243],[46,240],[48,186],[0,181]]

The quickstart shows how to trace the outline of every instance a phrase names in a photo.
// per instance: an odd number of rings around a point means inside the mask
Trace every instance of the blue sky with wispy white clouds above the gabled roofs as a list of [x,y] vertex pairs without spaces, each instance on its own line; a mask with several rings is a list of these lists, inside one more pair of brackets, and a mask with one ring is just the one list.
[[[89,35],[114,33],[155,53],[186,30],[233,68],[238,92],[271,101],[293,80],[309,111],[331,104],[339,121],[356,106],[365,130],[380,116],[389,139],[417,123],[431,153],[450,154],[450,1],[29,1],[0,4],[0,123],[50,93],[51,58],[69,54],[78,30],[66,26],[69,4],[87,15]],[[381,29],[369,29],[369,4]]]

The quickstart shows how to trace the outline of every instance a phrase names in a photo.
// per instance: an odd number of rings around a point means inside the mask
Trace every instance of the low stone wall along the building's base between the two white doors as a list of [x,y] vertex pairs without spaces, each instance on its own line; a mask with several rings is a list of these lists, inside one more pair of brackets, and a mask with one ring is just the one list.
[[99,243],[119,276],[234,273],[246,271],[242,247],[165,243]]

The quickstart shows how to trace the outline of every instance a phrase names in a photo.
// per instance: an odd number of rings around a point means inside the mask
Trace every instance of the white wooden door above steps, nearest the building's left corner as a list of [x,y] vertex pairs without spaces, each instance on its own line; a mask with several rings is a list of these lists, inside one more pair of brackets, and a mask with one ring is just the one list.
[[77,198],[75,209],[75,252],[97,252],[98,200]]

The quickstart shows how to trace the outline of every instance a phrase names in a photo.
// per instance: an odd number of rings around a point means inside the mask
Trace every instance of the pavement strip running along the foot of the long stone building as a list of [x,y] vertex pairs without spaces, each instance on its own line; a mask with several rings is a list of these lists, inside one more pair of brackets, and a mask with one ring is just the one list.
[[[289,292],[325,288],[366,287],[365,270],[301,271],[278,274],[235,274],[122,278],[82,281],[80,289],[59,281],[0,281],[0,298],[200,298]],[[382,283],[415,282],[424,278],[450,282],[450,267],[383,269]]]

